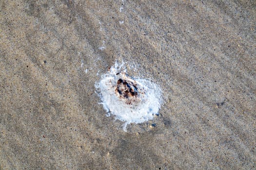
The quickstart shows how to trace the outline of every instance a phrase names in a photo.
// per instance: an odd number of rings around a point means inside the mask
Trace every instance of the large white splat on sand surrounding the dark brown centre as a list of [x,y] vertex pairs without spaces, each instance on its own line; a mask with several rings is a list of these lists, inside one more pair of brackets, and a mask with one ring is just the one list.
[[[117,93],[119,79],[127,80],[136,84],[138,96],[131,100],[121,98]],[[116,119],[124,121],[123,130],[127,124],[142,123],[158,115],[161,105],[162,91],[159,86],[149,79],[131,78],[126,74],[124,63],[111,67],[108,73],[101,76],[101,80],[95,84],[107,115],[115,115]]]

